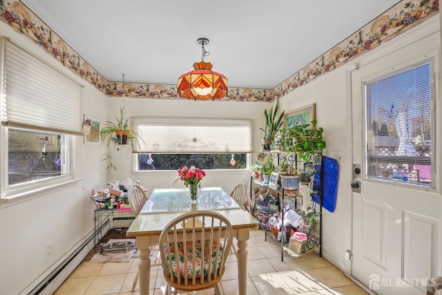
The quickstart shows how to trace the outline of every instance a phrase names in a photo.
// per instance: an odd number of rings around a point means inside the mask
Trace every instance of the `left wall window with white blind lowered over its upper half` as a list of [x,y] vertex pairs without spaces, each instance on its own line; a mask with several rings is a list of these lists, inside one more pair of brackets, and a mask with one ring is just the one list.
[[70,142],[82,135],[82,90],[9,39],[2,46],[0,198],[11,200],[70,180]]

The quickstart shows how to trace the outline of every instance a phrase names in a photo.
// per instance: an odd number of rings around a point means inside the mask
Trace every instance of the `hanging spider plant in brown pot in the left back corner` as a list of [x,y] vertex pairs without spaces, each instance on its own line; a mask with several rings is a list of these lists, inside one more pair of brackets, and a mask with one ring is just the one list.
[[102,144],[109,146],[111,142],[115,144],[128,144],[133,148],[134,144],[140,145],[142,137],[131,127],[129,127],[129,118],[126,118],[125,106],[120,106],[119,117],[115,116],[116,122],[106,121],[104,127],[99,131],[99,136],[102,139]]

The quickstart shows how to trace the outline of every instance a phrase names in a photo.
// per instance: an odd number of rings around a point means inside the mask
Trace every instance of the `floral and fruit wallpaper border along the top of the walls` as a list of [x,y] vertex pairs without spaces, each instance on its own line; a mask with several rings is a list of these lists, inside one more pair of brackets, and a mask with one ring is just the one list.
[[[348,37],[332,50],[316,59],[273,89],[229,88],[221,101],[271,102],[290,91],[329,73],[348,61],[363,55],[419,23],[437,15],[439,0],[403,0]],[[21,3],[0,0],[0,20],[27,35],[61,64],[108,96],[157,99],[182,99],[177,86],[168,84],[142,84],[108,82],[87,61],[70,48],[44,21]]]

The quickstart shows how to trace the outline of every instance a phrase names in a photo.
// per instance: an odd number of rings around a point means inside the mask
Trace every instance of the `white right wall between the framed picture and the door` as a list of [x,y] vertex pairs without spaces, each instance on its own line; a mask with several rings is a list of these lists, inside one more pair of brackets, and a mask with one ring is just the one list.
[[[323,75],[313,82],[296,88],[280,99],[280,106],[286,111],[302,108],[309,104],[316,104],[317,126],[324,128],[327,149],[324,155],[329,156],[332,151],[345,155],[346,137],[351,132],[347,124],[346,101],[347,84],[345,67],[340,67],[331,73]],[[344,252],[347,241],[347,202],[349,198],[349,181],[345,175],[349,172],[351,160],[344,156],[343,164],[339,165],[338,198],[336,210],[329,213],[323,210],[323,256],[336,264],[340,269],[345,268]]]

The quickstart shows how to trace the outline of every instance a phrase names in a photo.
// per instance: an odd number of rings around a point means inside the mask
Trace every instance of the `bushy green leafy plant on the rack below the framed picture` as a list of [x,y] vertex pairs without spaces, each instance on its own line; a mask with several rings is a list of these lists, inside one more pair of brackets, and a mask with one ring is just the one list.
[[321,153],[325,149],[323,132],[322,127],[316,127],[316,120],[311,121],[311,124],[291,127],[290,134],[293,134],[294,143],[290,149],[308,162],[312,153]]

